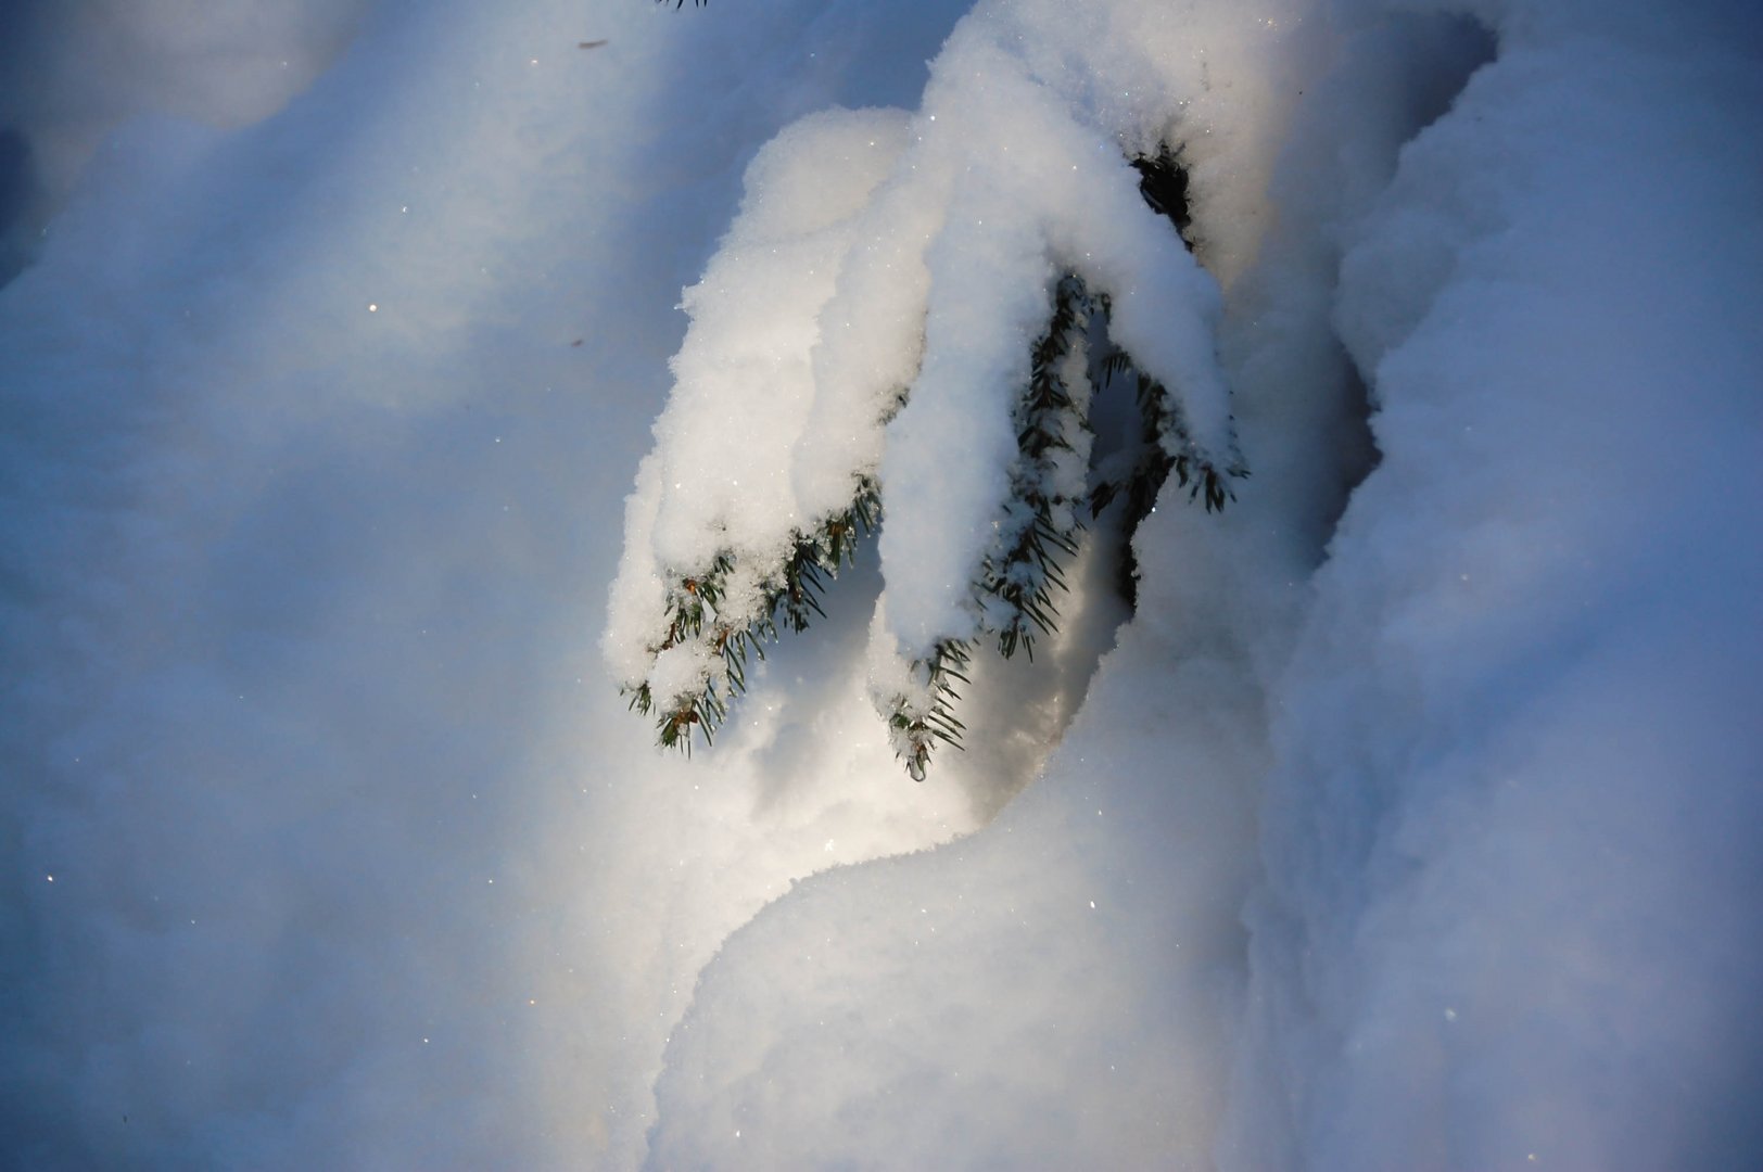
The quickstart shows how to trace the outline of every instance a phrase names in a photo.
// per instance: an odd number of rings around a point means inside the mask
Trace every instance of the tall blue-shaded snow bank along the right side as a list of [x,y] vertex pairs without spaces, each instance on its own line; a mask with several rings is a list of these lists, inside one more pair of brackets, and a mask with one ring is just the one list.
[[1758,1158],[1763,70],[1703,16],[1502,16],[1349,234],[1384,458],[1271,693],[1252,1163]]

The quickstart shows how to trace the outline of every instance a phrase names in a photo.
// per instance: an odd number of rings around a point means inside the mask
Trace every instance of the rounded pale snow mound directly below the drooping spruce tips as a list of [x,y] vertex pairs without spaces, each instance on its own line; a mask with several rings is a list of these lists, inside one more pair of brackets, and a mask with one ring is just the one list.
[[[1204,516],[1151,522],[1206,545]],[[1222,575],[1174,569],[984,832],[804,883],[723,945],[649,1167],[1208,1165],[1266,761],[1229,596],[1192,590]]]

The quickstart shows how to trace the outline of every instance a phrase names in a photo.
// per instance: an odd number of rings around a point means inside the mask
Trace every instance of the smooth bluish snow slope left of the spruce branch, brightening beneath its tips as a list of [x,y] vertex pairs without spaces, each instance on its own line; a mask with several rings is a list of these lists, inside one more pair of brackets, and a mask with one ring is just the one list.
[[864,737],[866,610],[691,772],[592,654],[744,166],[954,18],[384,4],[106,143],[0,289],[11,1161],[631,1167],[730,929],[1001,800]]

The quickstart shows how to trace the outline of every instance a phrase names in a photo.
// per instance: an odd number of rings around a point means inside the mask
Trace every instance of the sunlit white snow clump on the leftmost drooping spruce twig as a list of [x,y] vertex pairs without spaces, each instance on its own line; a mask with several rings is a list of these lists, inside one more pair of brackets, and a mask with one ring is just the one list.
[[[804,118],[748,167],[748,196],[703,280],[686,291],[691,331],[673,358],[673,395],[656,449],[626,506],[626,548],[603,640],[619,680],[649,679],[665,640],[670,576],[702,575],[719,555],[735,567],[719,617],[760,619],[769,571],[809,525],[788,469],[813,441],[809,352],[857,211],[899,155],[906,118],[832,111]],[[850,504],[850,493],[843,504]],[[675,657],[679,659],[679,657]],[[696,691],[712,664],[665,671],[665,700]]]

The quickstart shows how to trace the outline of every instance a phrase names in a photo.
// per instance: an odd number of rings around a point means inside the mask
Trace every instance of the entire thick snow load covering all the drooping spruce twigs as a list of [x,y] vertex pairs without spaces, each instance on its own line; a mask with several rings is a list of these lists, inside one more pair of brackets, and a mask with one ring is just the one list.
[[[633,707],[661,707],[663,744],[719,723],[749,647],[837,571],[874,508],[889,518],[889,617],[873,659],[919,664],[922,693],[978,634],[1014,645],[1021,613],[998,597],[1026,571],[987,578],[987,566],[1007,566],[1037,513],[1024,501],[1068,536],[1088,474],[1075,435],[1088,384],[1065,404],[1077,423],[1054,428],[1060,451],[1019,451],[1031,354],[1063,280],[1109,307],[1112,344],[1167,388],[1169,458],[1238,469],[1218,284],[1130,164],[1209,134],[1190,109],[1206,106],[1204,62],[1169,37],[1169,23],[1109,4],[986,4],[933,63],[915,115],[818,115],[755,160],[740,215],[686,294],[691,328],[605,636]],[[1137,88],[1098,88],[1109,72]],[[1208,162],[1204,146],[1195,159]]]

